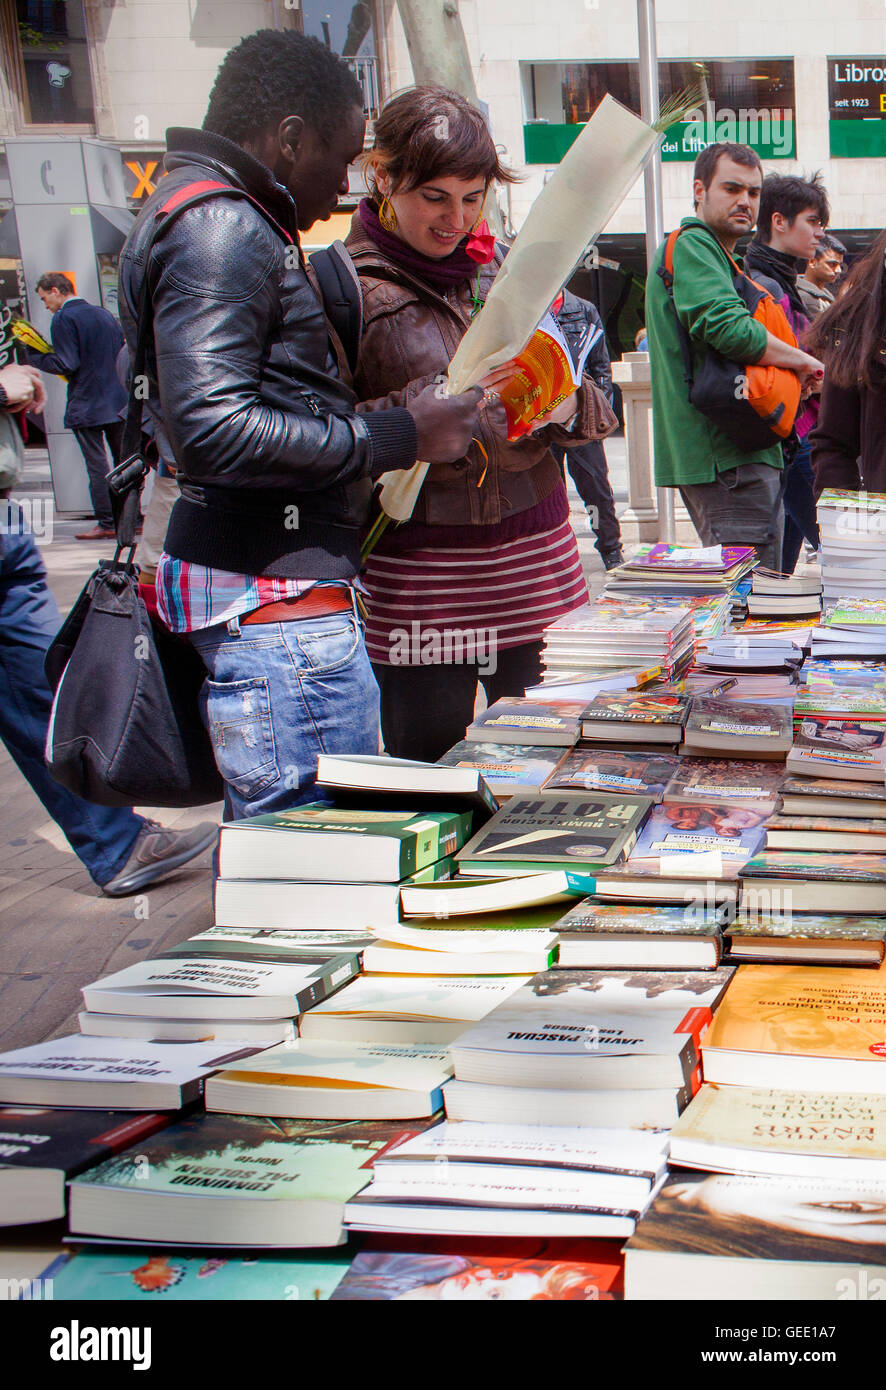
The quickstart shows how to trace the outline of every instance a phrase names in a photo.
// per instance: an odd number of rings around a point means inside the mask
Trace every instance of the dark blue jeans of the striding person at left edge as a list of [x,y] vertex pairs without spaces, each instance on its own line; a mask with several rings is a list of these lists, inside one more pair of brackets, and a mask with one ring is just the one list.
[[132,810],[75,796],[46,771],[53,696],[43,657],[60,626],[40,552],[21,510],[0,502],[0,738],[93,881],[103,884],[122,869],[145,821]]

